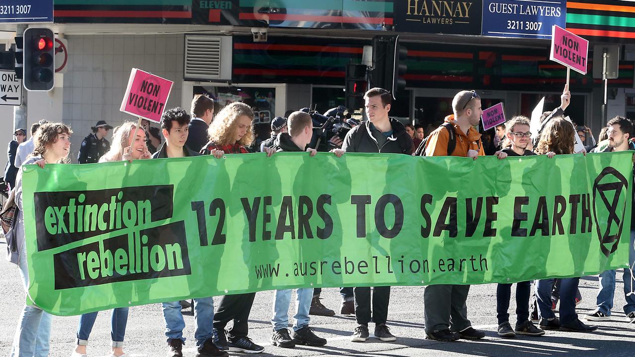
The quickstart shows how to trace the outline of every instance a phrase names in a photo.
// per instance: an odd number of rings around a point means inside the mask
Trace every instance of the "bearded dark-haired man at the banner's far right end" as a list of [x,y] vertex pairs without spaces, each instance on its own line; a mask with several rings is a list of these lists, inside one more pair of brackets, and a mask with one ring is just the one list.
[[[616,116],[606,123],[606,133],[609,144],[602,152],[635,150],[635,144],[630,139],[633,133],[633,125],[629,119]],[[635,182],[635,180],[631,180]],[[632,197],[635,203],[635,193]],[[634,205],[635,206],[635,205]],[[631,322],[635,322],[635,292],[633,291],[633,269],[635,267],[635,211],[631,211],[631,243],[629,244],[629,266],[624,268],[622,281],[624,281],[624,314]],[[592,313],[584,316],[589,321],[611,320],[613,297],[615,295],[615,270],[603,271],[599,274],[598,307]]]

